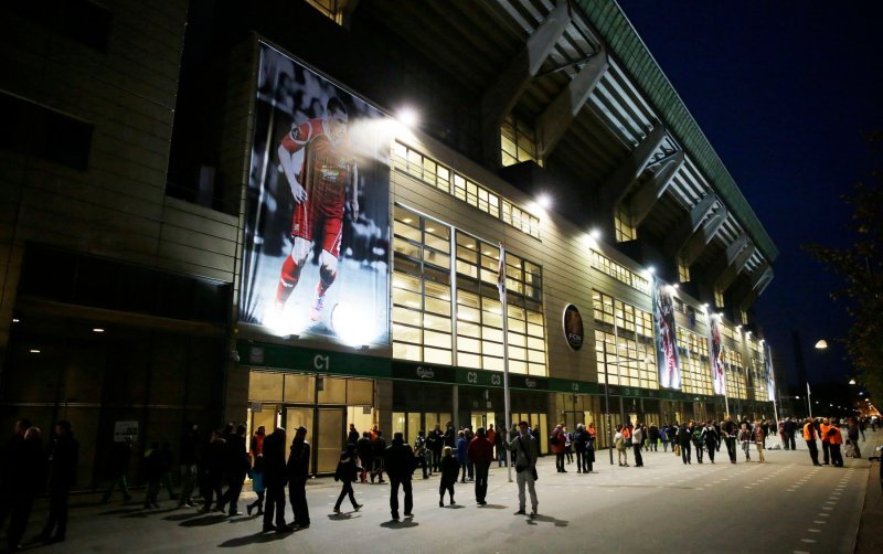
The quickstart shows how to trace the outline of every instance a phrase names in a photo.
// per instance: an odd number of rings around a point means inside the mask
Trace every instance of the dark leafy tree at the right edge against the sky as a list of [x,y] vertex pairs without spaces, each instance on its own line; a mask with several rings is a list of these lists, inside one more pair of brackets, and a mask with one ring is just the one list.
[[[883,142],[883,132],[869,137]],[[872,398],[883,403],[883,173],[853,185],[843,201],[853,207],[848,227],[855,234],[849,247],[808,245],[805,248],[828,270],[843,278],[832,292],[852,319],[845,337],[849,356]]]

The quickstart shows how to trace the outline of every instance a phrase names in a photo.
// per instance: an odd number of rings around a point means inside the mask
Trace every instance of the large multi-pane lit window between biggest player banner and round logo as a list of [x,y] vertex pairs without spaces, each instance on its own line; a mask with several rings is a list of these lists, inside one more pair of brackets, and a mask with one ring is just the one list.
[[[455,233],[451,264],[450,233]],[[395,206],[393,356],[503,370],[499,246]],[[451,271],[457,289],[451,291]],[[540,266],[506,255],[509,371],[547,375]],[[451,297],[451,292],[454,297]],[[456,344],[451,320],[456,303]]]

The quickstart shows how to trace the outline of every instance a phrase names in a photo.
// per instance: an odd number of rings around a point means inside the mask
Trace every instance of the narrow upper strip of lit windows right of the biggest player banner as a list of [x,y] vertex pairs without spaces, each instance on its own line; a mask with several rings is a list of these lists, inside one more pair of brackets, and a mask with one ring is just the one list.
[[539,217],[401,142],[393,143],[393,167],[492,217],[502,220],[503,223],[523,233],[540,238]]

